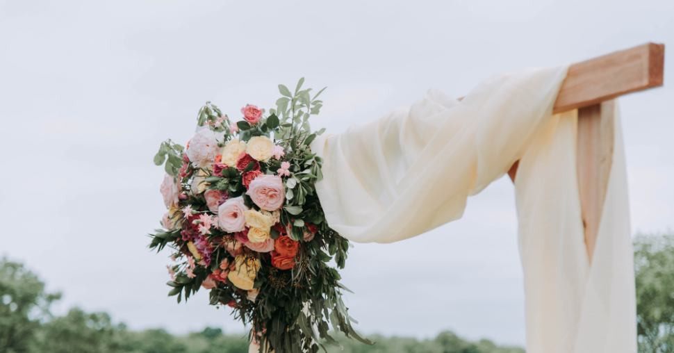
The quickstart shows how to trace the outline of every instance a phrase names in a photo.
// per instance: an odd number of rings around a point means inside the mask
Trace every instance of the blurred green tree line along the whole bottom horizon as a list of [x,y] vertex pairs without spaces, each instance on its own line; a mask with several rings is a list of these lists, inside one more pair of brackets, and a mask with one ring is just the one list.
[[[674,233],[634,238],[637,331],[640,353],[674,353]],[[79,308],[54,317],[51,304],[58,293],[46,293],[44,282],[21,263],[0,260],[0,353],[245,353],[246,334],[221,329],[176,336],[164,329],[130,331],[114,325],[107,313]],[[471,342],[451,331],[435,338],[368,336],[362,345],[343,336],[343,346],[329,353],[524,353],[521,347]]]

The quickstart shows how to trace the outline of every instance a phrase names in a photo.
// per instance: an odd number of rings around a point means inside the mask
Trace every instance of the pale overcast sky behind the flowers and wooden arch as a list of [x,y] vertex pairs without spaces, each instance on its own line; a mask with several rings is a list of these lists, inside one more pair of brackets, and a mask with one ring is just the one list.
[[[0,0],[0,255],[71,306],[131,329],[243,332],[202,291],[167,297],[160,143],[192,137],[212,101],[240,118],[277,85],[323,93],[315,129],[343,131],[438,87],[666,44],[665,85],[620,99],[632,230],[674,226],[674,1]],[[356,244],[343,270],[365,334],[524,345],[523,274],[507,177],[463,219],[389,245]]]

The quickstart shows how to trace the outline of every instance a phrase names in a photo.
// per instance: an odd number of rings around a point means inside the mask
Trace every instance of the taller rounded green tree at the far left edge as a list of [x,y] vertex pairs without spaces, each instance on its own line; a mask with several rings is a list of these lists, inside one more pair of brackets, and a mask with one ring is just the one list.
[[44,293],[44,283],[20,263],[0,260],[0,352],[33,352],[40,320],[49,317],[59,293]]

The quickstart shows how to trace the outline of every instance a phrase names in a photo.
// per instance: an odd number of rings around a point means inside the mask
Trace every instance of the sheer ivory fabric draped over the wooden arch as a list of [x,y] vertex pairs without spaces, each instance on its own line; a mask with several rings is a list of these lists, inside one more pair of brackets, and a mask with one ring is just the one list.
[[515,181],[527,352],[636,352],[625,157],[614,159],[593,263],[584,245],[575,110],[552,115],[568,67],[525,69],[462,101],[437,89],[410,107],[317,138],[316,184],[330,227],[392,243],[463,215],[466,199],[520,160]]

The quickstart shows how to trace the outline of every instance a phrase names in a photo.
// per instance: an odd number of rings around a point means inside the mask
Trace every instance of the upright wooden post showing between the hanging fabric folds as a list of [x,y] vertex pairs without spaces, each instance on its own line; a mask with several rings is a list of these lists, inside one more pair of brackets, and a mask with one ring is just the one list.
[[614,110],[612,99],[578,109],[578,188],[590,263],[613,164]]

